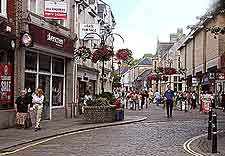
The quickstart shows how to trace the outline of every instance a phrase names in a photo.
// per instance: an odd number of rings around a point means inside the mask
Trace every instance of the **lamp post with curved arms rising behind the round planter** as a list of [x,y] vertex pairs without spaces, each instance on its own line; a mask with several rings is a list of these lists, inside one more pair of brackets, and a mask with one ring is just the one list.
[[[122,40],[123,40],[123,42],[124,42],[124,39],[123,39],[123,37],[121,36],[121,35],[119,35],[119,34],[117,34],[117,33],[112,33],[112,30],[110,29],[110,30],[107,30],[107,31],[105,31],[103,34],[98,34],[98,33],[87,33],[85,36],[84,36],[84,38],[83,38],[83,40],[87,37],[87,36],[89,36],[89,35],[97,35],[99,38],[100,38],[100,45],[99,45],[99,48],[103,48],[103,47],[105,47],[106,46],[106,41],[107,41],[107,39],[109,38],[109,37],[112,37],[113,38],[113,35],[116,35],[116,36],[119,36]],[[103,59],[103,60],[101,60],[102,61],[102,82],[101,82],[101,90],[102,90],[102,93],[104,93],[104,69],[105,69],[105,60]]]

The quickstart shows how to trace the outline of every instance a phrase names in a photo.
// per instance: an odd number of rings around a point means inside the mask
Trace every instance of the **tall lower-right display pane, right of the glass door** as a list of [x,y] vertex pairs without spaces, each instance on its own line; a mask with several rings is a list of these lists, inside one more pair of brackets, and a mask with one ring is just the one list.
[[52,106],[63,106],[63,78],[52,78]]

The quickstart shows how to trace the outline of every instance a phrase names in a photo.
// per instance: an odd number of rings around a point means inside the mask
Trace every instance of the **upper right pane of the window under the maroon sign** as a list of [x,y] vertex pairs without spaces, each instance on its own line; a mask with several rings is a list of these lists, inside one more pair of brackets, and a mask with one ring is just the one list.
[[52,58],[52,73],[64,74],[64,60],[60,58]]

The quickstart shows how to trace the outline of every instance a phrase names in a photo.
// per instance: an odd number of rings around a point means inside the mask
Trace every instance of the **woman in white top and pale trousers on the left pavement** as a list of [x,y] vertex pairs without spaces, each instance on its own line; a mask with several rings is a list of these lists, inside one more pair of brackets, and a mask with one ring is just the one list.
[[38,88],[32,97],[34,119],[35,119],[35,131],[41,130],[40,122],[44,104],[44,93],[41,88]]

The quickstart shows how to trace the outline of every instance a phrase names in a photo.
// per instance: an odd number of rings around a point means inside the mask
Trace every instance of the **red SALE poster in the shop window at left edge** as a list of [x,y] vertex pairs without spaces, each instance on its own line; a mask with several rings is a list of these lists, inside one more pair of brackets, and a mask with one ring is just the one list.
[[12,95],[12,65],[0,64],[0,103],[11,103]]

